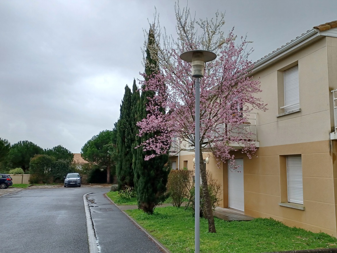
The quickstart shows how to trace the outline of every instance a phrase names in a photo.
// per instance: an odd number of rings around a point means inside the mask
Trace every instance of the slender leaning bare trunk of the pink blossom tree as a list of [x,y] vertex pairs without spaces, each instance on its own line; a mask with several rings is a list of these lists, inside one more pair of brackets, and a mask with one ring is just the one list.
[[212,210],[212,203],[210,199],[210,195],[208,192],[208,185],[207,185],[207,176],[206,176],[206,169],[204,167],[204,159],[203,159],[203,152],[200,149],[200,176],[203,186],[203,198],[204,198],[204,204],[206,209],[206,218],[208,220],[208,232],[209,233],[216,233],[215,231],[215,223],[214,223],[214,217],[213,217],[213,210]]

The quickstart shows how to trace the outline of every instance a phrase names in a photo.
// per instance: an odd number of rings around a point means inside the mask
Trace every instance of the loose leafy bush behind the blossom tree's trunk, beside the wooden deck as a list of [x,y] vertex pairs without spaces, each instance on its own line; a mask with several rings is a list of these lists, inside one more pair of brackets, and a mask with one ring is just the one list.
[[[221,184],[218,183],[218,181],[215,178],[212,178],[211,173],[207,171],[207,186],[208,186],[208,192],[211,199],[212,209],[214,211],[215,207],[219,206],[220,201],[220,193],[221,193]],[[193,187],[190,189],[190,196],[187,205],[185,206],[185,209],[187,207],[193,208],[193,215],[194,215],[194,209],[195,209],[195,188],[194,184]],[[200,185],[200,217],[206,218],[206,207],[203,197],[203,187]]]

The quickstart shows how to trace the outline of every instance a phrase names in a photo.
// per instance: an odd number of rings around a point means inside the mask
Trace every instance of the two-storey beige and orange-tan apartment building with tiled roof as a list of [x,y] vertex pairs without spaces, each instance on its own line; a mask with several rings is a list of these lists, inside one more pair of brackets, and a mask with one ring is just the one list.
[[[220,207],[337,236],[337,21],[319,25],[258,60],[266,112],[250,115],[257,152],[236,153],[237,171],[206,168],[223,186]],[[247,127],[247,125],[243,126]],[[171,153],[193,169],[194,153]],[[207,162],[206,163],[206,158]]]

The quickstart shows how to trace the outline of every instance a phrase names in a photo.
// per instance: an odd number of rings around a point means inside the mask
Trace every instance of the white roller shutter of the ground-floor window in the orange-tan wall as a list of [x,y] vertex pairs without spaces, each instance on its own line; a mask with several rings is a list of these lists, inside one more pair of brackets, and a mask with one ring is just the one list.
[[288,202],[303,204],[301,155],[287,156]]

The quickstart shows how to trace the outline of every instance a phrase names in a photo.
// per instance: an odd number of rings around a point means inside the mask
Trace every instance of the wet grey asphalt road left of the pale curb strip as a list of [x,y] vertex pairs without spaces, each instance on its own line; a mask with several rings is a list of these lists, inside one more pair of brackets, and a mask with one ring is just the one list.
[[26,189],[0,198],[0,251],[89,252],[83,195],[102,188]]

